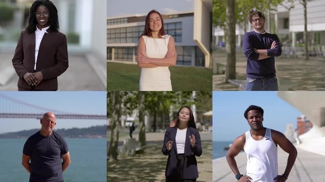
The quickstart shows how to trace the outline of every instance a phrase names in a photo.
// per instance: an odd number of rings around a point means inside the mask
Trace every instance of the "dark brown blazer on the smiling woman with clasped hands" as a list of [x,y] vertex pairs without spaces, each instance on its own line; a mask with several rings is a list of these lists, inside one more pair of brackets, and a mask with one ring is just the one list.
[[[40,44],[35,72],[41,71],[43,80],[36,86],[37,90],[56,90],[57,77],[69,67],[67,38],[61,32],[46,30]],[[23,75],[34,72],[35,64],[35,32],[22,30],[12,64],[19,76],[18,87],[31,89]]]

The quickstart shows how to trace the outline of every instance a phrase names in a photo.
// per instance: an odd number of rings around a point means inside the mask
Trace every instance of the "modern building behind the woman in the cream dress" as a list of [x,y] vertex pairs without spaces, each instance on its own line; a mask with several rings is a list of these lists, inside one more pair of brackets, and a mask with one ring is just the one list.
[[[212,1],[194,1],[194,12],[161,14],[165,33],[175,39],[177,65],[211,66]],[[107,60],[136,64],[146,15],[107,18]]]

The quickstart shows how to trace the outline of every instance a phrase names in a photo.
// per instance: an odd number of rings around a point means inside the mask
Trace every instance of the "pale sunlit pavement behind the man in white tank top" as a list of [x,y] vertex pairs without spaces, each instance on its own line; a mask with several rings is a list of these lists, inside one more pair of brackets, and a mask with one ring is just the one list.
[[[324,181],[325,156],[307,152],[297,148],[298,156],[294,167],[286,182],[321,182]],[[288,154],[278,149],[278,172],[282,174],[285,170]],[[246,154],[240,153],[236,157],[239,171],[246,173]],[[213,181],[229,182],[236,181],[225,157],[213,160]]]

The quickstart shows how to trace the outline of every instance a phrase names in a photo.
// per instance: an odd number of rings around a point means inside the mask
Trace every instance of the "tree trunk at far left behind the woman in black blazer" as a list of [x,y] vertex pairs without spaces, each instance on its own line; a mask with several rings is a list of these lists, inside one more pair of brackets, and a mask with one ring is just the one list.
[[121,109],[121,99],[119,92],[112,92],[112,104],[114,106],[112,112],[112,131],[111,131],[111,141],[110,147],[108,149],[108,159],[117,160],[117,150],[118,150],[118,134],[120,126],[120,109]]

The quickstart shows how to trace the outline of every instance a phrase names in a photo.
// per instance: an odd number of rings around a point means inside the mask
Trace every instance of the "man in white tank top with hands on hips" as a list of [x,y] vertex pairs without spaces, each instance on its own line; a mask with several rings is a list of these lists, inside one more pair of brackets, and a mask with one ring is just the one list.
[[[297,157],[295,146],[279,131],[263,126],[264,110],[261,107],[249,106],[244,116],[250,130],[235,139],[226,155],[227,162],[238,181],[282,182],[286,181]],[[287,165],[278,175],[277,146],[289,154]],[[247,155],[246,175],[239,172],[235,157],[241,150]]]

